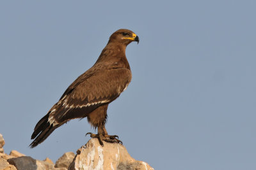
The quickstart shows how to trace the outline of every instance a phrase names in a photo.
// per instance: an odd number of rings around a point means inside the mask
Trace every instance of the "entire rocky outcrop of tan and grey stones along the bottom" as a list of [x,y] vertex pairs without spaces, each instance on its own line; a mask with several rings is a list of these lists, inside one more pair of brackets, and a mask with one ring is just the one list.
[[76,155],[64,153],[55,164],[49,158],[36,160],[16,150],[6,154],[3,146],[4,139],[0,134],[0,170],[153,169],[146,162],[133,159],[123,145],[104,142],[102,147],[97,139],[90,139]]

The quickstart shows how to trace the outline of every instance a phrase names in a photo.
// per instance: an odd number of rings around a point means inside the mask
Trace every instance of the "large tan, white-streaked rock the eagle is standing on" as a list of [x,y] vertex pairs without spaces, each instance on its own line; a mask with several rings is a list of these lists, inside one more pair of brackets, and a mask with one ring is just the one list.
[[133,159],[125,146],[105,141],[103,143],[104,147],[99,144],[98,139],[90,139],[77,150],[76,157],[68,169],[154,169],[146,162]]

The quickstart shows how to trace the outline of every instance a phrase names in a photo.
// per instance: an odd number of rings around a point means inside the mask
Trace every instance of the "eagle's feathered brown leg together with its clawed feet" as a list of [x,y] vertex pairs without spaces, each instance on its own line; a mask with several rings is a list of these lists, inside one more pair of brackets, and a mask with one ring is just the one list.
[[98,134],[93,134],[91,132],[88,132],[87,134],[90,134],[91,138],[98,138],[99,143],[102,146],[103,146],[103,141],[106,141],[106,142],[109,142],[109,143],[122,143],[122,141],[117,139],[118,136],[108,135],[108,132],[105,128],[106,119],[108,117],[107,116],[107,109],[108,109],[108,104],[106,104],[104,106],[100,106],[99,108],[92,111],[92,113],[90,113],[87,116],[88,122],[90,122],[90,124],[93,127],[98,128]]

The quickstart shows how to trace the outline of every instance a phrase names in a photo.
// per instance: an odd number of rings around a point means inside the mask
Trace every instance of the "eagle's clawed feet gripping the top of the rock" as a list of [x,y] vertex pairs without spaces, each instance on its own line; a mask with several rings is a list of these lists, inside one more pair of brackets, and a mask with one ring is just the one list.
[[[100,143],[101,146],[104,146],[103,141],[106,141],[106,142],[108,142],[108,143],[121,143],[121,144],[123,144],[122,141],[120,141],[120,140],[118,139],[118,136],[117,136],[117,135],[93,134],[93,133],[91,133],[91,132],[86,133],[86,135],[88,135],[88,134],[90,134],[90,137],[91,137],[91,138],[98,138],[99,143]],[[85,135],[85,136],[86,136],[86,135]]]

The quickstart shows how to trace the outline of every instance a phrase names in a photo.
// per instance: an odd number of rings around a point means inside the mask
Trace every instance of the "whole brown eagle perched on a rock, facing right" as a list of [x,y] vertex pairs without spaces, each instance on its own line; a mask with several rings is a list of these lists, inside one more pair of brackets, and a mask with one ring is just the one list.
[[[125,56],[126,46],[139,37],[128,29],[114,32],[95,64],[81,74],[52,106],[47,115],[36,124],[29,145],[31,148],[42,143],[56,128],[74,118],[87,117],[98,133],[90,134],[100,145],[122,143],[116,135],[106,131],[108,104],[120,96],[131,82],[132,73]],[[86,135],[87,135],[86,134]]]

